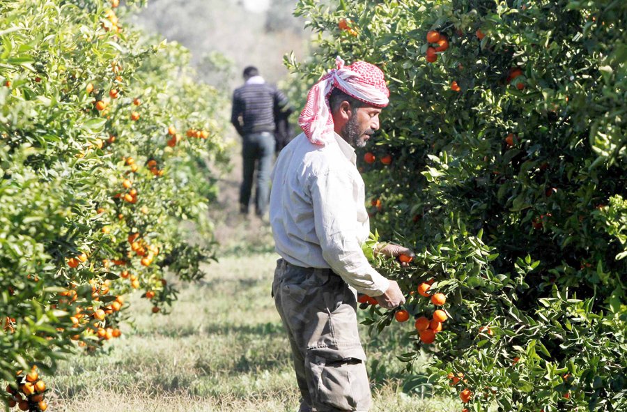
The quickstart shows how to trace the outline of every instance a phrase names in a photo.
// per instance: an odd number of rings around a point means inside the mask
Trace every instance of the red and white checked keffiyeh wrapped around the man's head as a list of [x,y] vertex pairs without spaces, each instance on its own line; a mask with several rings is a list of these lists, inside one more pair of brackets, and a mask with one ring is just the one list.
[[336,69],[320,78],[307,94],[307,104],[300,113],[298,124],[307,135],[309,142],[325,146],[333,137],[333,118],[329,105],[329,95],[338,88],[348,96],[361,100],[374,107],[385,107],[389,90],[385,85],[383,72],[371,63],[355,61],[344,67],[344,61],[337,57]]

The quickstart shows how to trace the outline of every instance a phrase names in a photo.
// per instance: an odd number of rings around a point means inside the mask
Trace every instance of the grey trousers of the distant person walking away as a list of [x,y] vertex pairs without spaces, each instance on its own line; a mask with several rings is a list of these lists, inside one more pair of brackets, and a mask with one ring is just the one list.
[[274,135],[272,133],[251,133],[244,136],[242,144],[244,179],[240,187],[240,211],[242,213],[248,213],[255,169],[257,170],[255,213],[258,216],[263,216],[268,209],[270,169],[272,169],[273,156]]

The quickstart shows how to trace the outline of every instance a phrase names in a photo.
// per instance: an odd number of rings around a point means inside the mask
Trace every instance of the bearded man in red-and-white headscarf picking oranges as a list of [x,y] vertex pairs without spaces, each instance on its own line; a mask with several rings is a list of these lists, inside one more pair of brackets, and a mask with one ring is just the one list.
[[[378,130],[389,91],[376,66],[345,67],[339,57],[336,64],[309,91],[298,122],[303,133],[279,153],[272,172],[270,224],[281,256],[272,296],[291,345],[300,412],[370,409],[356,292],[386,309],[405,303],[398,284],[362,251],[370,228],[355,147]],[[375,252],[414,255],[394,244]]]

